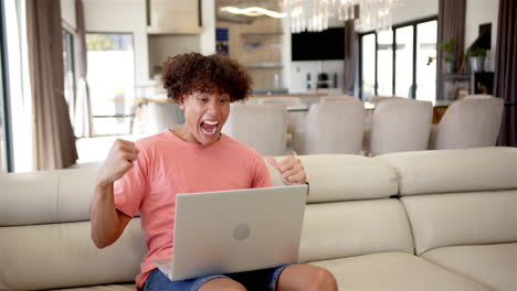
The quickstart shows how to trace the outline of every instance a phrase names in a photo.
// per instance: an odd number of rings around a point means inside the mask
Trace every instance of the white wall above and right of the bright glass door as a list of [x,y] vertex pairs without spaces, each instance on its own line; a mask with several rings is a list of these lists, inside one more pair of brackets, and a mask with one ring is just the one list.
[[146,2],[144,0],[84,0],[87,32],[133,33],[136,86],[149,79]]

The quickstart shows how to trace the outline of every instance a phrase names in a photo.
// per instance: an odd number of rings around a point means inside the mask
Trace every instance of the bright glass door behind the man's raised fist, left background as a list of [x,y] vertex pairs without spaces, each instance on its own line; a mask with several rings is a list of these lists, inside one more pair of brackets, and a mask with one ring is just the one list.
[[133,34],[86,34],[96,136],[127,134],[135,98]]

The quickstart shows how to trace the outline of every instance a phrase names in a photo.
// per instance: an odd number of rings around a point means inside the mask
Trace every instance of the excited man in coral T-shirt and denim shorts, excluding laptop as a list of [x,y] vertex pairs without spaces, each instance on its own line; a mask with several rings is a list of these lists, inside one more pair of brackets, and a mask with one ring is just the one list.
[[[139,212],[148,252],[138,290],[337,290],[329,271],[303,263],[175,282],[156,269],[154,260],[172,257],[176,194],[272,185],[258,152],[221,133],[230,104],[251,91],[251,77],[240,64],[218,55],[177,55],[163,64],[161,78],[186,122],[135,143],[115,141],[92,202],[95,245],[115,242]],[[294,157],[284,159],[279,171],[287,183],[306,182]]]

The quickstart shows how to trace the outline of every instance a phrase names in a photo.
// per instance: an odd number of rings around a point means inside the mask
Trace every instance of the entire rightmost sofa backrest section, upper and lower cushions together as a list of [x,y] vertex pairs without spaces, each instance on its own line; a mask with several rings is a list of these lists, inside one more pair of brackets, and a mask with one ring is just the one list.
[[399,175],[416,255],[517,241],[517,149],[391,153],[374,160]]

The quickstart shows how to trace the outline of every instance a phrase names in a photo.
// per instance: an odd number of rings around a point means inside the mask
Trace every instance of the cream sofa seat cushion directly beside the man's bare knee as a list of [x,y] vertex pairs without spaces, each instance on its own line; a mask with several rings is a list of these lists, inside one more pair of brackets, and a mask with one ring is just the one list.
[[348,291],[486,291],[466,277],[407,252],[381,252],[310,262],[327,268],[339,290]]

